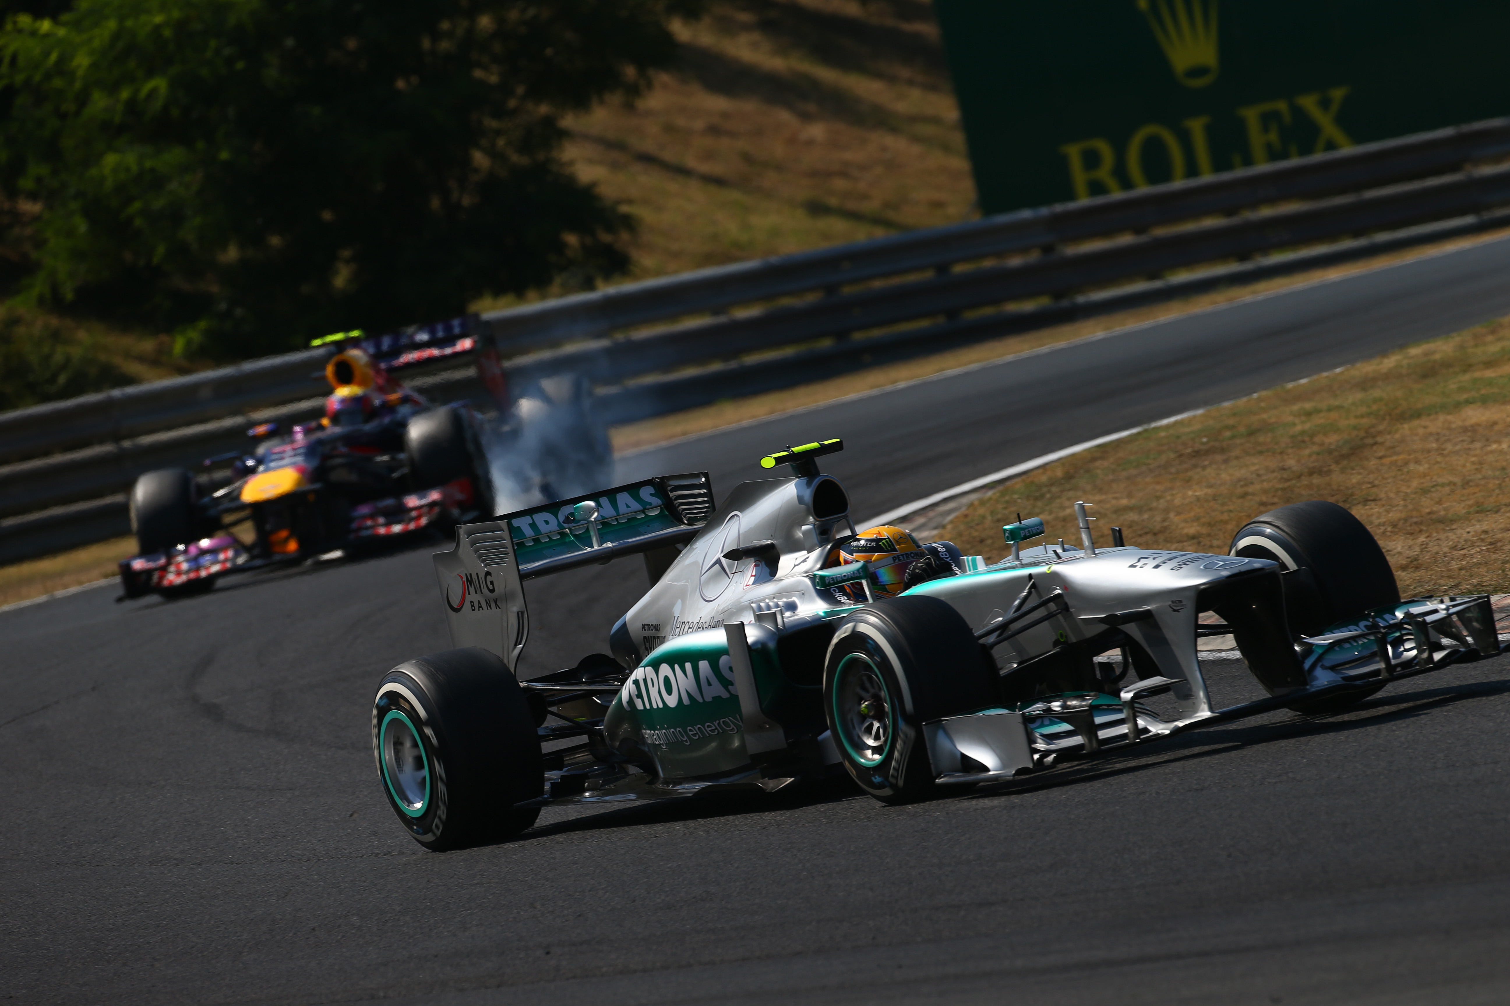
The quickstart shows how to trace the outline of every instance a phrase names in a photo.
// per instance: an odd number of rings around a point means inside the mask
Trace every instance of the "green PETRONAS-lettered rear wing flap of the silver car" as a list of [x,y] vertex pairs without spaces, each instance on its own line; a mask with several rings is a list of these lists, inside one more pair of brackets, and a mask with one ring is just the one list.
[[713,513],[707,472],[658,475],[498,517],[510,529],[519,576],[607,563],[690,541]]

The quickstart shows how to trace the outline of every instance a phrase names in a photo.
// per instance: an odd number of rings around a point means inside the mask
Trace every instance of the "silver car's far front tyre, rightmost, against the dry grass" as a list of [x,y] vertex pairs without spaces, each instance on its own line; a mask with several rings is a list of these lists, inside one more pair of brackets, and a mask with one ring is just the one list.
[[[1249,520],[1232,535],[1229,555],[1273,560],[1293,570],[1285,576],[1285,617],[1290,630],[1300,635],[1400,602],[1395,573],[1379,541],[1362,520],[1324,499],[1290,504]],[[1290,709],[1306,715],[1341,712],[1379,688]]]

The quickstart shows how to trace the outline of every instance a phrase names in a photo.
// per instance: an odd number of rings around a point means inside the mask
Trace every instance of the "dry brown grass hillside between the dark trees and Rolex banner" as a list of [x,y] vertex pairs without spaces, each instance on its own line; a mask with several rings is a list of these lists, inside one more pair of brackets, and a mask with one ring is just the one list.
[[[926,0],[716,0],[673,30],[680,66],[636,104],[563,124],[577,175],[639,219],[633,265],[615,282],[972,213],[959,106]],[[581,279],[524,300],[572,293]]]

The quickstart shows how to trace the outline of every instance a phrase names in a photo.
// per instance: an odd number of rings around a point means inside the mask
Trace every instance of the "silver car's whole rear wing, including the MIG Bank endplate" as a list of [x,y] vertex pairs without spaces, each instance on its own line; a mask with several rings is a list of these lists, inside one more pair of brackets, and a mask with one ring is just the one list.
[[524,582],[690,541],[713,514],[707,472],[661,475],[456,528],[435,554],[451,646],[518,667],[530,632]]

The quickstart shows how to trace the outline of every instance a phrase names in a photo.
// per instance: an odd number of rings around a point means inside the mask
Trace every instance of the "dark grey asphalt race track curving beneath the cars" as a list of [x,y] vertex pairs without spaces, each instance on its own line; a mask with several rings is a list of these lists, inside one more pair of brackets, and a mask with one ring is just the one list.
[[[695,437],[624,474],[707,468],[726,490],[776,446],[843,436],[824,468],[864,517],[1507,314],[1507,275],[1510,241],[1481,244]],[[1510,997],[1507,658],[926,805],[827,784],[548,810],[521,840],[436,855],[384,804],[367,719],[382,671],[448,647],[429,551],[0,612],[0,997]],[[627,560],[530,584],[525,674],[606,649],[643,582]],[[1238,679],[1213,671],[1220,700]]]

